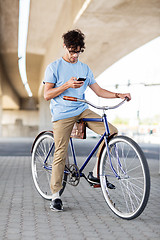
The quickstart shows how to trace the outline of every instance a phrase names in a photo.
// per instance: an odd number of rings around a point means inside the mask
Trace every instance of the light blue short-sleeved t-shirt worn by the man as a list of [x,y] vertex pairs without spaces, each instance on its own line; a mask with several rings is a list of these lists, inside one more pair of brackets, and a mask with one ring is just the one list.
[[87,86],[96,82],[92,71],[86,64],[80,61],[73,64],[60,58],[47,66],[44,82],[54,83],[54,87],[59,87],[66,83],[71,77],[81,77],[86,78],[86,80],[82,87],[69,88],[59,96],[51,99],[50,109],[52,121],[77,116],[88,108],[86,103],[63,100],[63,96],[84,99],[84,92]]

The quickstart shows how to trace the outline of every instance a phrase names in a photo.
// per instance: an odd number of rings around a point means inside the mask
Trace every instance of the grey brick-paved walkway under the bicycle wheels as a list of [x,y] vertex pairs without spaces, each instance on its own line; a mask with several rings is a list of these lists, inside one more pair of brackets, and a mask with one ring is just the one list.
[[131,221],[116,217],[100,189],[82,179],[67,186],[65,211],[50,211],[49,202],[36,191],[30,157],[0,157],[0,239],[84,240],[160,239],[160,175],[158,161],[149,160],[151,195],[143,214]]

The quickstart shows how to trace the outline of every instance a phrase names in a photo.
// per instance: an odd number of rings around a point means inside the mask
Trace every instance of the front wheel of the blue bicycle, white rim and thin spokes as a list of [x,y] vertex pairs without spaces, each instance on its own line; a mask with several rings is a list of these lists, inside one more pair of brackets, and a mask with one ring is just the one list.
[[[100,181],[110,209],[123,219],[138,217],[150,193],[149,168],[141,148],[125,136],[112,138],[100,160]],[[109,188],[108,182],[115,189]]]

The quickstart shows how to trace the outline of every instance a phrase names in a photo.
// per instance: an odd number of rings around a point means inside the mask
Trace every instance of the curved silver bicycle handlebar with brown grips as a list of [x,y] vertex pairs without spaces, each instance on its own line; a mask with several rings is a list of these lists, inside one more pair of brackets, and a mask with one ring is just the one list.
[[123,101],[121,101],[120,103],[114,105],[114,106],[96,106],[92,103],[90,103],[89,101],[85,100],[85,99],[80,99],[80,98],[75,98],[75,97],[69,97],[69,96],[64,96],[63,97],[64,100],[68,100],[68,101],[75,101],[75,102],[84,102],[84,103],[87,103],[89,104],[90,106],[94,107],[94,108],[97,108],[97,109],[101,109],[101,110],[109,110],[109,109],[115,109],[115,108],[118,108],[120,107],[125,101],[129,101],[129,98],[128,97],[125,97],[125,99]]

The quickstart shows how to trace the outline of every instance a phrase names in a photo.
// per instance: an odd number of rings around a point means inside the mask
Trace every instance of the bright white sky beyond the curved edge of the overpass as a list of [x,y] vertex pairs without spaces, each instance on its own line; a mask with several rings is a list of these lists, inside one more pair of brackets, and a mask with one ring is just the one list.
[[[109,115],[112,119],[116,116],[136,119],[138,113],[140,119],[160,115],[160,37],[120,59],[99,75],[96,81],[109,91],[131,93],[130,102],[119,109],[111,110],[114,112],[110,111]],[[115,88],[117,84],[118,88]],[[90,90],[86,93],[86,99],[94,100],[94,103],[100,105],[114,105],[119,101],[119,99],[98,99]]]

